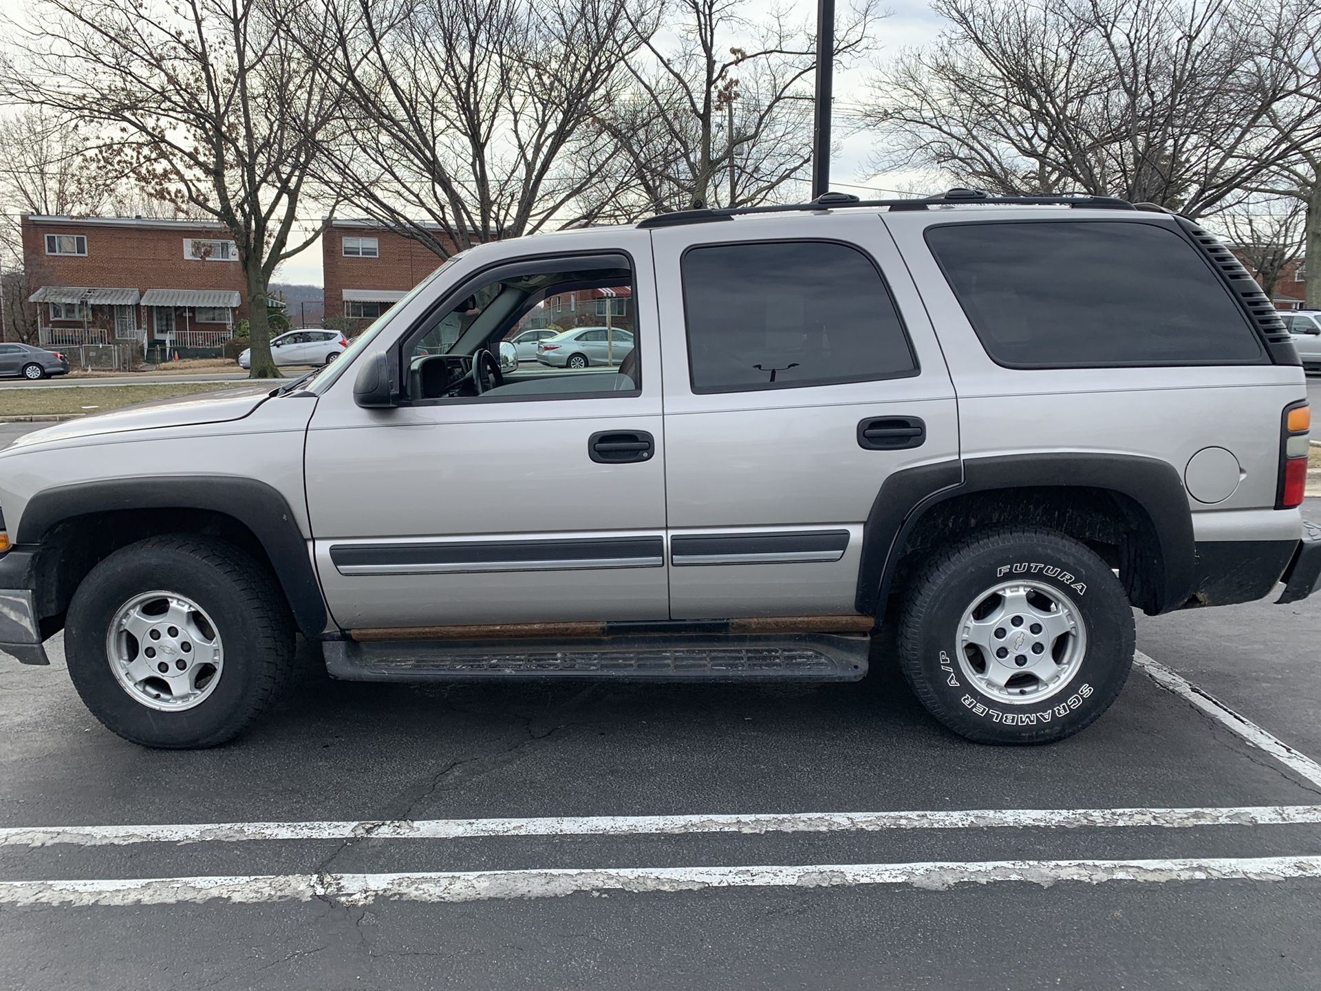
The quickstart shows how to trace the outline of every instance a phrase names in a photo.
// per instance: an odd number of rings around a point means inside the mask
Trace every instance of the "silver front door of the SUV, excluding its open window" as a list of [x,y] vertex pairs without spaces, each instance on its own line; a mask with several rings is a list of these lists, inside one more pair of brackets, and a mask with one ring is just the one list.
[[[318,400],[308,509],[317,571],[341,626],[668,616],[650,243],[642,231],[616,237],[612,247],[631,255],[635,295],[647,301],[638,314],[641,395],[363,410],[345,375]],[[456,264],[432,301],[470,275]],[[650,435],[650,456],[609,448],[594,460],[597,435]]]

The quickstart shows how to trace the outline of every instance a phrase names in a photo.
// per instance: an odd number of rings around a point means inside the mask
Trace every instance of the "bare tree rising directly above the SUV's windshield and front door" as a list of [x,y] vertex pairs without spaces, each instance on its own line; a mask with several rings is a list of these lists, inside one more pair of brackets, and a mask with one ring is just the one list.
[[[637,0],[328,0],[310,50],[339,114],[318,174],[357,213],[441,258],[585,219],[600,112],[647,29]],[[626,13],[627,9],[627,13]]]

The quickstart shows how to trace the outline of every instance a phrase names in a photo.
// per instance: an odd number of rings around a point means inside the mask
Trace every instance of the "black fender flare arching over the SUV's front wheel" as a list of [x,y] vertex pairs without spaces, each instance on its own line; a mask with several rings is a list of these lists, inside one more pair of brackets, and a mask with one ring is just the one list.
[[44,489],[24,507],[15,538],[30,548],[66,519],[135,509],[201,509],[236,519],[271,559],[299,629],[316,638],[325,632],[325,600],[297,517],[284,495],[255,478],[136,476]]

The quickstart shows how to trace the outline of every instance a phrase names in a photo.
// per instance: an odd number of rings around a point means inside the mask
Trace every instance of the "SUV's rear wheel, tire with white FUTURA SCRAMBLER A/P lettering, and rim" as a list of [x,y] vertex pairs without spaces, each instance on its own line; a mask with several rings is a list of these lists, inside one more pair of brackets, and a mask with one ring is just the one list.
[[[960,736],[1041,744],[1110,708],[1135,638],[1128,597],[1096,554],[1052,530],[1004,529],[939,550],[921,568],[901,606],[900,665],[926,710]],[[979,640],[1007,651],[1000,667],[987,666]]]

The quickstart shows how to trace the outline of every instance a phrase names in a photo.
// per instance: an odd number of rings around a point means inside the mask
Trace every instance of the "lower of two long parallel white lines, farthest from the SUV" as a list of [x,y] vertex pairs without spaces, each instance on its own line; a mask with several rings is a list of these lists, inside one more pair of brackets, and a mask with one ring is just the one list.
[[682,892],[711,888],[852,888],[905,885],[947,891],[958,884],[1020,881],[1281,881],[1321,877],[1321,858],[1184,858],[1166,860],[927,860],[908,864],[802,867],[613,867],[604,869],[436,871],[234,877],[147,877],[96,881],[0,881],[0,905],[124,906],[180,902],[390,901],[559,899],[576,892]]

